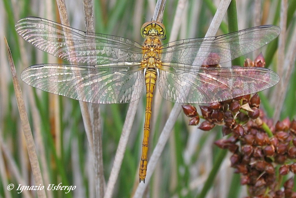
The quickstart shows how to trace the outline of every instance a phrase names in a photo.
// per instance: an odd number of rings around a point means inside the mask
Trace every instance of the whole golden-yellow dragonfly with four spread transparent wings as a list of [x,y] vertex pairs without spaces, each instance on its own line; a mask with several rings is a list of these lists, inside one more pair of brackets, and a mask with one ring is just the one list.
[[71,62],[28,67],[20,75],[26,84],[99,104],[129,103],[146,92],[140,182],[145,182],[147,172],[152,98],[157,83],[161,96],[168,101],[213,103],[262,91],[280,80],[267,68],[204,67],[229,62],[266,45],[280,34],[280,28],[273,25],[166,44],[162,44],[165,26],[156,21],[143,24],[143,44],[37,17],[20,19],[15,29],[38,49]]

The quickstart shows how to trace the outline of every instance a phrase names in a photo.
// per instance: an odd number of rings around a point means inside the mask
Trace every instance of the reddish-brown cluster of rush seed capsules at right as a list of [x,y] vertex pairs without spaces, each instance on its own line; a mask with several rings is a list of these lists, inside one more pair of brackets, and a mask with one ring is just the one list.
[[[296,173],[296,121],[286,118],[274,125],[259,105],[260,98],[254,94],[200,106],[205,121],[198,128],[209,131],[222,125],[223,135],[230,134],[215,144],[233,153],[231,166],[241,174],[241,184],[248,186],[250,197],[296,198],[292,178],[281,186],[284,175]],[[184,105],[183,110],[191,117],[189,124],[198,125],[195,107]]]

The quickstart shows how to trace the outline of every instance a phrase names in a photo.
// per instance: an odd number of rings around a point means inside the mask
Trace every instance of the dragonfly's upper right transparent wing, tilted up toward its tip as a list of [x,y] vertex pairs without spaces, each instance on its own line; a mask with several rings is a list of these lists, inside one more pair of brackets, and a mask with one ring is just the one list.
[[163,45],[161,60],[192,66],[228,62],[266,45],[280,32],[277,26],[263,25],[218,37],[173,41]]

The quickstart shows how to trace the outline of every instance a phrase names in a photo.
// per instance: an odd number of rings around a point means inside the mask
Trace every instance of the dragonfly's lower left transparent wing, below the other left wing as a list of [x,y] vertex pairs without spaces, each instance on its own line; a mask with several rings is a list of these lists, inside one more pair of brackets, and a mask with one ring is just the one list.
[[128,103],[144,91],[138,63],[99,66],[39,64],[26,68],[21,79],[46,92],[91,103]]

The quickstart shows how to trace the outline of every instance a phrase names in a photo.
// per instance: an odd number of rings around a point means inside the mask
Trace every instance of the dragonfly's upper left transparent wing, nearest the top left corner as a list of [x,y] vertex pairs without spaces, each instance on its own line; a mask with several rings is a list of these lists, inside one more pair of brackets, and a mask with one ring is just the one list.
[[77,64],[133,62],[143,56],[142,45],[129,39],[83,32],[47,19],[20,19],[15,29],[38,49]]

